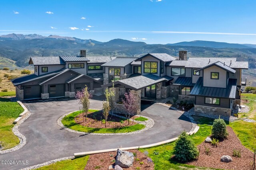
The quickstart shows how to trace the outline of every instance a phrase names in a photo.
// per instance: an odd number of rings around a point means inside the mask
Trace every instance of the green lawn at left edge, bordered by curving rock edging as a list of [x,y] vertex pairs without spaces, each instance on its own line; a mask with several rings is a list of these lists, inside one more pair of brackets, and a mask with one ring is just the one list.
[[6,98],[0,98],[0,141],[5,148],[11,148],[20,142],[12,133],[13,121],[24,109],[17,102],[10,102]]

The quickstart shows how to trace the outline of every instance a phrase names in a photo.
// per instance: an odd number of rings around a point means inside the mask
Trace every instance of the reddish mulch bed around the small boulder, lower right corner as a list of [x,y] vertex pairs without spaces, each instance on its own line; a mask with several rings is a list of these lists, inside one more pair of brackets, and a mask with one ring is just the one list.
[[[218,147],[212,147],[210,143],[204,142],[198,145],[198,149],[201,147],[199,159],[188,162],[188,164],[230,170],[251,170],[254,153],[242,145],[231,127],[227,127],[227,131],[229,134],[228,139],[220,141]],[[210,155],[206,154],[205,146],[210,148]],[[232,156],[234,149],[241,150],[241,158]],[[231,156],[233,161],[228,163],[221,162],[220,158],[223,155]]]

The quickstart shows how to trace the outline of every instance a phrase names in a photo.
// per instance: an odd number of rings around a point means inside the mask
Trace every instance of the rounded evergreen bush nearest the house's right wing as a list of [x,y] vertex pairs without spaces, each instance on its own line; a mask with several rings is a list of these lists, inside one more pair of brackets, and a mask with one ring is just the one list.
[[217,139],[224,139],[228,137],[226,123],[223,119],[218,118],[213,121],[212,136]]

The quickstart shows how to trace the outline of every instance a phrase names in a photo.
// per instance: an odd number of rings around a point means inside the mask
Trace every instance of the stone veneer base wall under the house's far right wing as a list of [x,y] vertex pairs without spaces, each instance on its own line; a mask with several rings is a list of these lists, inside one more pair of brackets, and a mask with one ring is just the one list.
[[222,115],[222,116],[230,116],[231,109],[220,108],[220,107],[209,107],[209,106],[194,106],[195,114],[208,114],[208,115]]

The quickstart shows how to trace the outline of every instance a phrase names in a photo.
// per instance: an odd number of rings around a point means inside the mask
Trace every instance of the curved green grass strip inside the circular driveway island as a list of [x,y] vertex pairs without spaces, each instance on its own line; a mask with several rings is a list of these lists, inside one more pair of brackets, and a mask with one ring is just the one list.
[[[95,112],[98,110],[90,110],[91,112]],[[81,132],[88,132],[88,133],[126,133],[126,132],[133,132],[133,131],[138,131],[140,129],[144,129],[145,125],[141,124],[136,124],[132,126],[127,126],[127,127],[121,127],[121,128],[91,128],[91,127],[85,127],[82,125],[79,125],[75,122],[74,118],[79,115],[80,112],[76,111],[74,113],[71,113],[67,116],[65,116],[62,119],[62,123],[64,126],[76,130],[76,131],[81,131]]]

